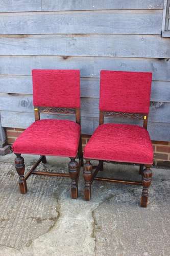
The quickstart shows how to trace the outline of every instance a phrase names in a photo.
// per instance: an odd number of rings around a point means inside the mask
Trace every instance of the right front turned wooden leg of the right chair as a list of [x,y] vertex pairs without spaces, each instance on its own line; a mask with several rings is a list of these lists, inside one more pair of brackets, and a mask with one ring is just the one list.
[[148,203],[148,190],[149,186],[151,185],[152,180],[152,170],[151,165],[146,165],[146,168],[142,172],[142,195],[141,195],[141,206],[147,207]]

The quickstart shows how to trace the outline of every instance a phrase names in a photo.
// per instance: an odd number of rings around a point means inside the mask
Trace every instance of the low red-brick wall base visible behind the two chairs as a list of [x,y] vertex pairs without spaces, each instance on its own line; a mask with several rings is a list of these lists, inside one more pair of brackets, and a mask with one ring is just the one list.
[[[12,144],[15,139],[24,131],[24,129],[7,128],[6,134],[8,144]],[[90,139],[90,135],[82,135],[83,148]],[[154,148],[154,163],[156,165],[170,166],[170,142],[152,141]]]

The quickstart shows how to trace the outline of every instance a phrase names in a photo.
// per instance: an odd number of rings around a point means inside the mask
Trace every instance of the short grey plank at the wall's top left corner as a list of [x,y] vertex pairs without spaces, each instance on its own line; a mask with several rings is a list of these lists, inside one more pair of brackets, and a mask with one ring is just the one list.
[[0,12],[41,11],[41,0],[1,0]]

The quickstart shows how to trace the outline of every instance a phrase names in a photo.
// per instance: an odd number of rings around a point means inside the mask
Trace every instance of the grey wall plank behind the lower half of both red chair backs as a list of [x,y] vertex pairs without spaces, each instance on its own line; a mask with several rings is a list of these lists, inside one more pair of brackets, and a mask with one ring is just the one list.
[[[33,113],[32,95],[0,96],[0,110]],[[99,99],[81,98],[81,116],[99,117]],[[154,102],[150,107],[149,121],[170,122],[170,103]]]

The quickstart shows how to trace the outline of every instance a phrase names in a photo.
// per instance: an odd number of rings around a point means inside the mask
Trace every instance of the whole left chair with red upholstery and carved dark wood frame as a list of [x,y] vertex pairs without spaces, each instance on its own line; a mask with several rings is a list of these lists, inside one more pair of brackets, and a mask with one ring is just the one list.
[[[33,70],[33,104],[35,122],[14,142],[15,167],[19,175],[21,194],[27,193],[27,179],[31,174],[71,178],[71,197],[78,197],[80,166],[83,165],[80,126],[80,71]],[[75,114],[76,122],[42,119],[40,113]],[[25,164],[21,154],[40,155],[39,160],[24,176]],[[35,168],[47,155],[69,157],[69,174],[38,172]],[[75,160],[79,158],[79,163]]]

